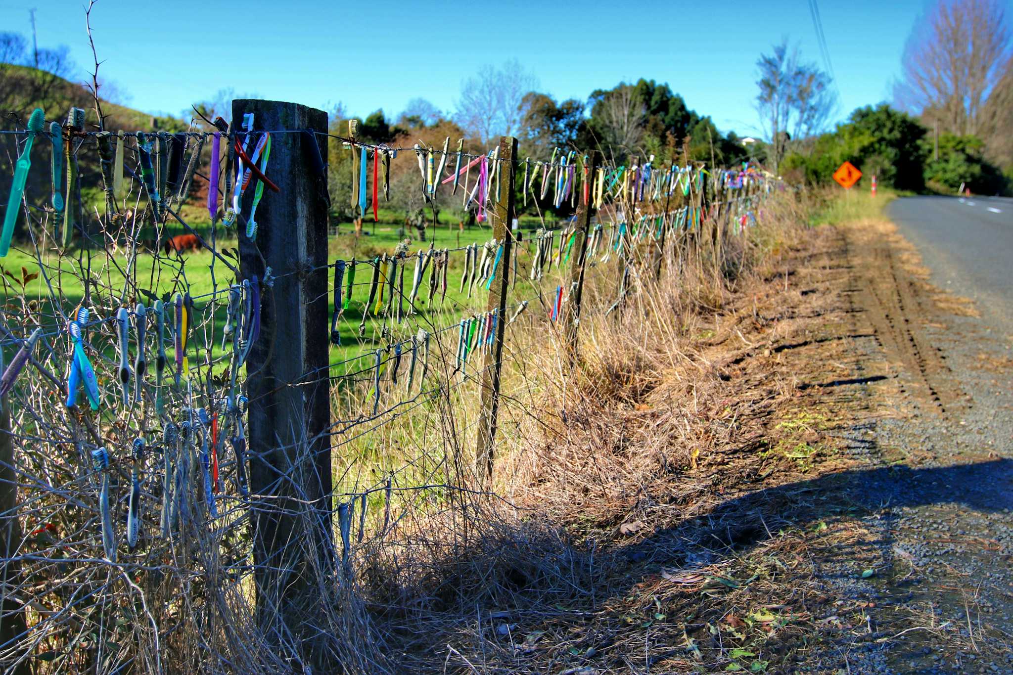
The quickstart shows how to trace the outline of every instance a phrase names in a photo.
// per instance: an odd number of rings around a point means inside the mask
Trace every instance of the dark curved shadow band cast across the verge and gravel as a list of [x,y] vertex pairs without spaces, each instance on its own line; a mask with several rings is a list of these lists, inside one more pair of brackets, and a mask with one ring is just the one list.
[[767,488],[729,499],[617,553],[640,564],[707,565],[783,527],[805,527],[846,512],[945,503],[983,512],[1013,509],[1013,460],[846,471]]

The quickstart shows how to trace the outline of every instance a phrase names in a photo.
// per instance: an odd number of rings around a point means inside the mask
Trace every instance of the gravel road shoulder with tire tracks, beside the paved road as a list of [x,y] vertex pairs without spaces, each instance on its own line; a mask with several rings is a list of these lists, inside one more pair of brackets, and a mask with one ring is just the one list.
[[847,490],[880,562],[870,579],[837,585],[868,602],[870,626],[892,637],[846,651],[848,670],[1013,672],[1010,366],[983,368],[1001,364],[1002,350],[972,312],[948,309],[959,299],[926,282],[892,225],[841,232],[850,332],[876,337],[854,344],[857,374],[890,375],[867,390],[883,414],[853,432],[884,471]]

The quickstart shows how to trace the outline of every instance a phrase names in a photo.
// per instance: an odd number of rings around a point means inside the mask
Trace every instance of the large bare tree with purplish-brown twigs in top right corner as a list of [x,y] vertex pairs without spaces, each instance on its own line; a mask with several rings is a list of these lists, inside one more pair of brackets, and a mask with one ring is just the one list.
[[897,102],[943,131],[979,134],[1010,55],[1006,11],[996,0],[939,0],[915,25]]

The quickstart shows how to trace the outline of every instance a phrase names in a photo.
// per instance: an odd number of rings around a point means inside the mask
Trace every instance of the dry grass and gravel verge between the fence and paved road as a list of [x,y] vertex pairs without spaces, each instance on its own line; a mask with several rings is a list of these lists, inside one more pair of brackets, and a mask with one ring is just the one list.
[[688,365],[571,439],[609,436],[573,468],[600,485],[547,507],[566,534],[529,541],[540,566],[498,551],[509,606],[417,636],[418,667],[1013,672],[1013,336],[919,265],[882,221],[781,252]]

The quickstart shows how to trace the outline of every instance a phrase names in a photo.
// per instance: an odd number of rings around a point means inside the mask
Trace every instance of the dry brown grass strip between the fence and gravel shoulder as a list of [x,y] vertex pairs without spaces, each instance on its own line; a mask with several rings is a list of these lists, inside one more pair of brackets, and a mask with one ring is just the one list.
[[799,204],[769,208],[751,238],[725,241],[722,264],[670,242],[658,281],[638,265],[618,314],[605,312],[618,280],[596,280],[572,373],[537,312],[515,329],[525,357],[508,359],[499,497],[405,510],[400,540],[357,554],[399,668],[767,667],[817,629],[807,603],[826,595],[806,549],[831,536],[796,527],[811,496],[779,486],[840,459],[830,414],[803,392],[827,368],[799,369],[779,345],[810,337],[807,312],[830,302],[798,285],[813,255],[806,278],[826,271],[814,249],[828,244],[796,225]]

